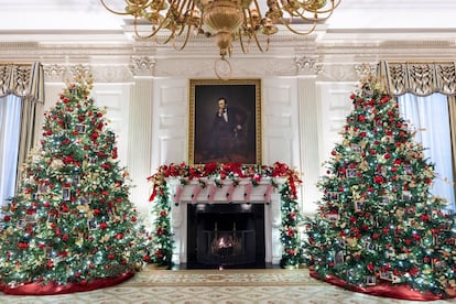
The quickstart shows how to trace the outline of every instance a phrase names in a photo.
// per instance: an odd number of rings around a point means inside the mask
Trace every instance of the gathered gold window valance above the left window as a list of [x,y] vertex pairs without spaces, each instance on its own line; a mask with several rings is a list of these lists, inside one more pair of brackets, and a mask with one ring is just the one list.
[[43,65],[0,63],[0,97],[9,94],[44,102]]

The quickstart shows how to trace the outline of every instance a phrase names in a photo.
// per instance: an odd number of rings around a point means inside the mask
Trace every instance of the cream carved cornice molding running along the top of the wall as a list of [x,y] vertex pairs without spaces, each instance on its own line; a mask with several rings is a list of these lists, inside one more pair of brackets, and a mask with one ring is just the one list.
[[[275,35],[269,52],[261,53],[251,45],[243,54],[239,42],[228,58],[232,77],[292,77],[317,76],[323,82],[358,80],[366,70],[360,65],[380,61],[450,61],[456,62],[456,40],[436,37],[398,40],[350,40],[349,34],[330,33],[318,40],[317,35]],[[344,35],[347,39],[344,39]],[[387,35],[383,33],[382,35]],[[336,39],[337,37],[337,39]],[[132,82],[134,77],[216,77],[215,61],[219,58],[213,39],[195,37],[180,52],[170,44],[151,41],[62,43],[51,41],[0,42],[2,59],[8,62],[40,61],[46,70],[46,80],[64,80],[69,65],[90,65],[96,82]],[[100,40],[101,41],[101,40]],[[356,66],[356,67],[355,67]]]

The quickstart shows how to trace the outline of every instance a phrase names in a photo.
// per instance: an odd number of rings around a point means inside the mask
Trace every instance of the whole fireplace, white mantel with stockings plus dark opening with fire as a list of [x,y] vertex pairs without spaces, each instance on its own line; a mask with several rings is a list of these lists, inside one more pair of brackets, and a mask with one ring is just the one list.
[[256,186],[250,178],[240,178],[236,186],[229,180],[221,186],[209,178],[185,185],[178,178],[166,182],[173,200],[174,265],[268,268],[280,263],[280,187],[273,188],[270,178]]

